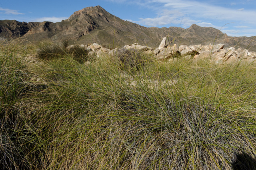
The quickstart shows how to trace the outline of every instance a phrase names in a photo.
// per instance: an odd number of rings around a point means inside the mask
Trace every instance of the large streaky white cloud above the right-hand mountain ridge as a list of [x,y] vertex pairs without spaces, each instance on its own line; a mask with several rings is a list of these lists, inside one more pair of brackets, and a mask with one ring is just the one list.
[[[140,0],[137,2],[142,3]],[[244,8],[236,10],[197,0],[150,0],[144,3],[144,6],[154,6],[154,9],[150,8],[153,11],[160,11],[160,13],[156,13],[156,17],[139,18],[136,21],[138,24],[147,26],[173,26],[173,24],[179,25],[181,23],[182,27],[186,28],[191,24],[204,25],[206,22],[218,22],[218,26],[212,26],[218,29],[231,22],[256,26],[252,19],[256,18],[255,10],[245,10]]]

